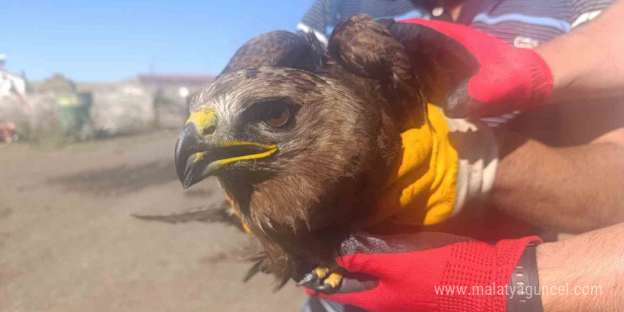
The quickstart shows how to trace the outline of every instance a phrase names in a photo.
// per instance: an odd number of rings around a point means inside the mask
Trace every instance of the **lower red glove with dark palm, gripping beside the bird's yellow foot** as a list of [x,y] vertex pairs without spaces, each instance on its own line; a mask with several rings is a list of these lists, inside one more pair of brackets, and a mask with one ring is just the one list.
[[[502,287],[535,236],[495,246],[444,233],[386,237],[351,235],[340,245],[338,265],[347,272],[334,294],[308,294],[367,311],[504,312],[506,294],[468,295],[472,286]],[[440,287],[467,286],[466,293]],[[436,293],[436,287],[438,292]],[[496,288],[493,289],[496,291]]]

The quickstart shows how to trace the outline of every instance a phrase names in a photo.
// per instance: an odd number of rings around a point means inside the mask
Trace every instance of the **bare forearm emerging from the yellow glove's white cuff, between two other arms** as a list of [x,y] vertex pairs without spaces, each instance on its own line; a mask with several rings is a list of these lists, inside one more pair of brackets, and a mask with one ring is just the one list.
[[624,222],[624,129],[574,147],[513,132],[499,142],[502,158],[491,189],[497,208],[569,233]]

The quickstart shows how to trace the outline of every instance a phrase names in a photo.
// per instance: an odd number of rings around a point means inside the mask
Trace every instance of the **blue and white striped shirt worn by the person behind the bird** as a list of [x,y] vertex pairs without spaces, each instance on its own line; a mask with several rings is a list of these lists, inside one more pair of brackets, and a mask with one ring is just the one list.
[[[316,0],[297,30],[314,32],[324,43],[349,16],[427,18],[452,21],[445,1]],[[457,1],[455,1],[457,2]],[[598,16],[613,0],[467,0],[457,23],[494,35],[518,48],[534,48]]]

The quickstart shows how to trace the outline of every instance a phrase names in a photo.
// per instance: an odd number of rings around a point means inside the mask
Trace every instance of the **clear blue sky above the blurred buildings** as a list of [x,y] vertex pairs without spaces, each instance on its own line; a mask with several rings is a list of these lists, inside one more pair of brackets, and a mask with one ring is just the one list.
[[44,79],[218,74],[258,33],[294,31],[312,0],[0,1],[7,69]]

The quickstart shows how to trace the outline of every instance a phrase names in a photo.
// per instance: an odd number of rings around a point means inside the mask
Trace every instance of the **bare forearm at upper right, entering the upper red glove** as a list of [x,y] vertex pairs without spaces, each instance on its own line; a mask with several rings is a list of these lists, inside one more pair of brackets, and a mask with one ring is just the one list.
[[624,1],[593,21],[535,48],[548,64],[554,87],[548,102],[624,95]]

